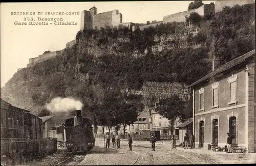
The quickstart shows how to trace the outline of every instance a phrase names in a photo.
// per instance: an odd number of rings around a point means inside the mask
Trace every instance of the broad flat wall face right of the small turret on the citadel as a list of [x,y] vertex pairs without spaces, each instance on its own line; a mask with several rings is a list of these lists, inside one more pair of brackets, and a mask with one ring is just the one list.
[[93,28],[95,26],[99,30],[100,27],[105,27],[106,25],[109,25],[112,27],[112,13],[110,12],[104,12],[93,16]]

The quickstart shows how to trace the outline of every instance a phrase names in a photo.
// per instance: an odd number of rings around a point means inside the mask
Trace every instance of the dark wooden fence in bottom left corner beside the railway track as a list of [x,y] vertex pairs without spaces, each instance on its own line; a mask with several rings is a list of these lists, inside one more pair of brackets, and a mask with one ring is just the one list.
[[1,141],[1,164],[15,165],[32,161],[54,153],[57,150],[57,139],[40,141]]

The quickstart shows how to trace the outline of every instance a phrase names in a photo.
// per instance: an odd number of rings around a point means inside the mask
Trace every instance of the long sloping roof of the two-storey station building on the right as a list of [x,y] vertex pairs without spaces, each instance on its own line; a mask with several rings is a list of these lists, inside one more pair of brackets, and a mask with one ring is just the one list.
[[242,62],[244,62],[245,60],[247,60],[248,58],[252,57],[252,56],[255,56],[255,49],[243,54],[243,56],[240,56],[232,61],[229,61],[228,63],[220,66],[219,68],[215,69],[214,71],[208,73],[207,75],[205,75],[204,77],[202,77],[201,79],[197,80],[196,82],[194,82],[193,84],[191,84],[190,86],[188,87],[192,87],[192,86],[195,86],[197,84],[199,84],[200,82],[208,79],[208,78],[211,78],[225,70],[228,70],[234,66],[237,66],[239,64],[241,64]]

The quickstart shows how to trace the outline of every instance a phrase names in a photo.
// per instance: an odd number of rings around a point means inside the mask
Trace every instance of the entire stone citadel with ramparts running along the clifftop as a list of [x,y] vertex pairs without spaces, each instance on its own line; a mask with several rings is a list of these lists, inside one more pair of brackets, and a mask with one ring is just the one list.
[[[81,13],[81,22],[80,22],[80,31],[87,29],[100,29],[100,27],[110,26],[110,27],[118,27],[119,25],[123,25],[129,27],[129,30],[135,31],[137,29],[143,30],[147,27],[153,26],[155,27],[161,23],[167,22],[184,22],[186,21],[186,17],[189,17],[190,13],[196,12],[200,16],[214,15],[217,12],[222,11],[225,6],[233,7],[234,5],[245,5],[245,4],[253,4],[254,0],[233,0],[233,1],[216,1],[215,4],[204,4],[201,7],[193,10],[187,10],[175,14],[170,14],[163,17],[162,21],[155,21],[148,24],[139,24],[133,22],[122,22],[122,14],[119,13],[118,10],[112,10],[108,12],[98,13],[97,8],[92,7],[89,11],[84,10]],[[72,40],[66,44],[66,48],[71,48],[76,43],[76,40]],[[56,56],[61,56],[62,52],[65,50],[53,51],[53,52],[45,52],[36,58],[29,59],[29,64],[27,67],[34,66],[36,63],[43,62],[45,60],[54,58]],[[20,70],[20,69],[18,69]]]

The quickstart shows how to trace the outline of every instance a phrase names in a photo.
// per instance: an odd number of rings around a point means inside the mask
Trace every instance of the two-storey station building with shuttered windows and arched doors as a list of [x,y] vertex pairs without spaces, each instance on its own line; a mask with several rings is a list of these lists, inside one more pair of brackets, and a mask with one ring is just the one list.
[[224,147],[227,132],[233,143],[256,152],[255,49],[222,66],[212,61],[212,72],[191,84],[193,130],[196,144]]

